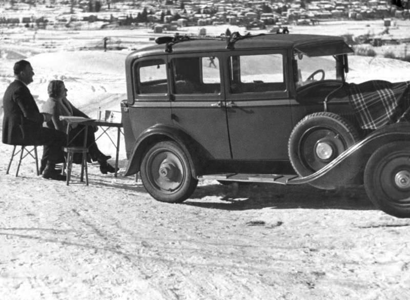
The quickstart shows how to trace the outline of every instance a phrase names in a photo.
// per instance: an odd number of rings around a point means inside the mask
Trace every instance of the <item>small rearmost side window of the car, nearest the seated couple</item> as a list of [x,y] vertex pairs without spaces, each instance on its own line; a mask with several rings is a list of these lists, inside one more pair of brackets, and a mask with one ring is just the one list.
[[162,59],[143,60],[136,64],[137,94],[168,93],[167,68]]

